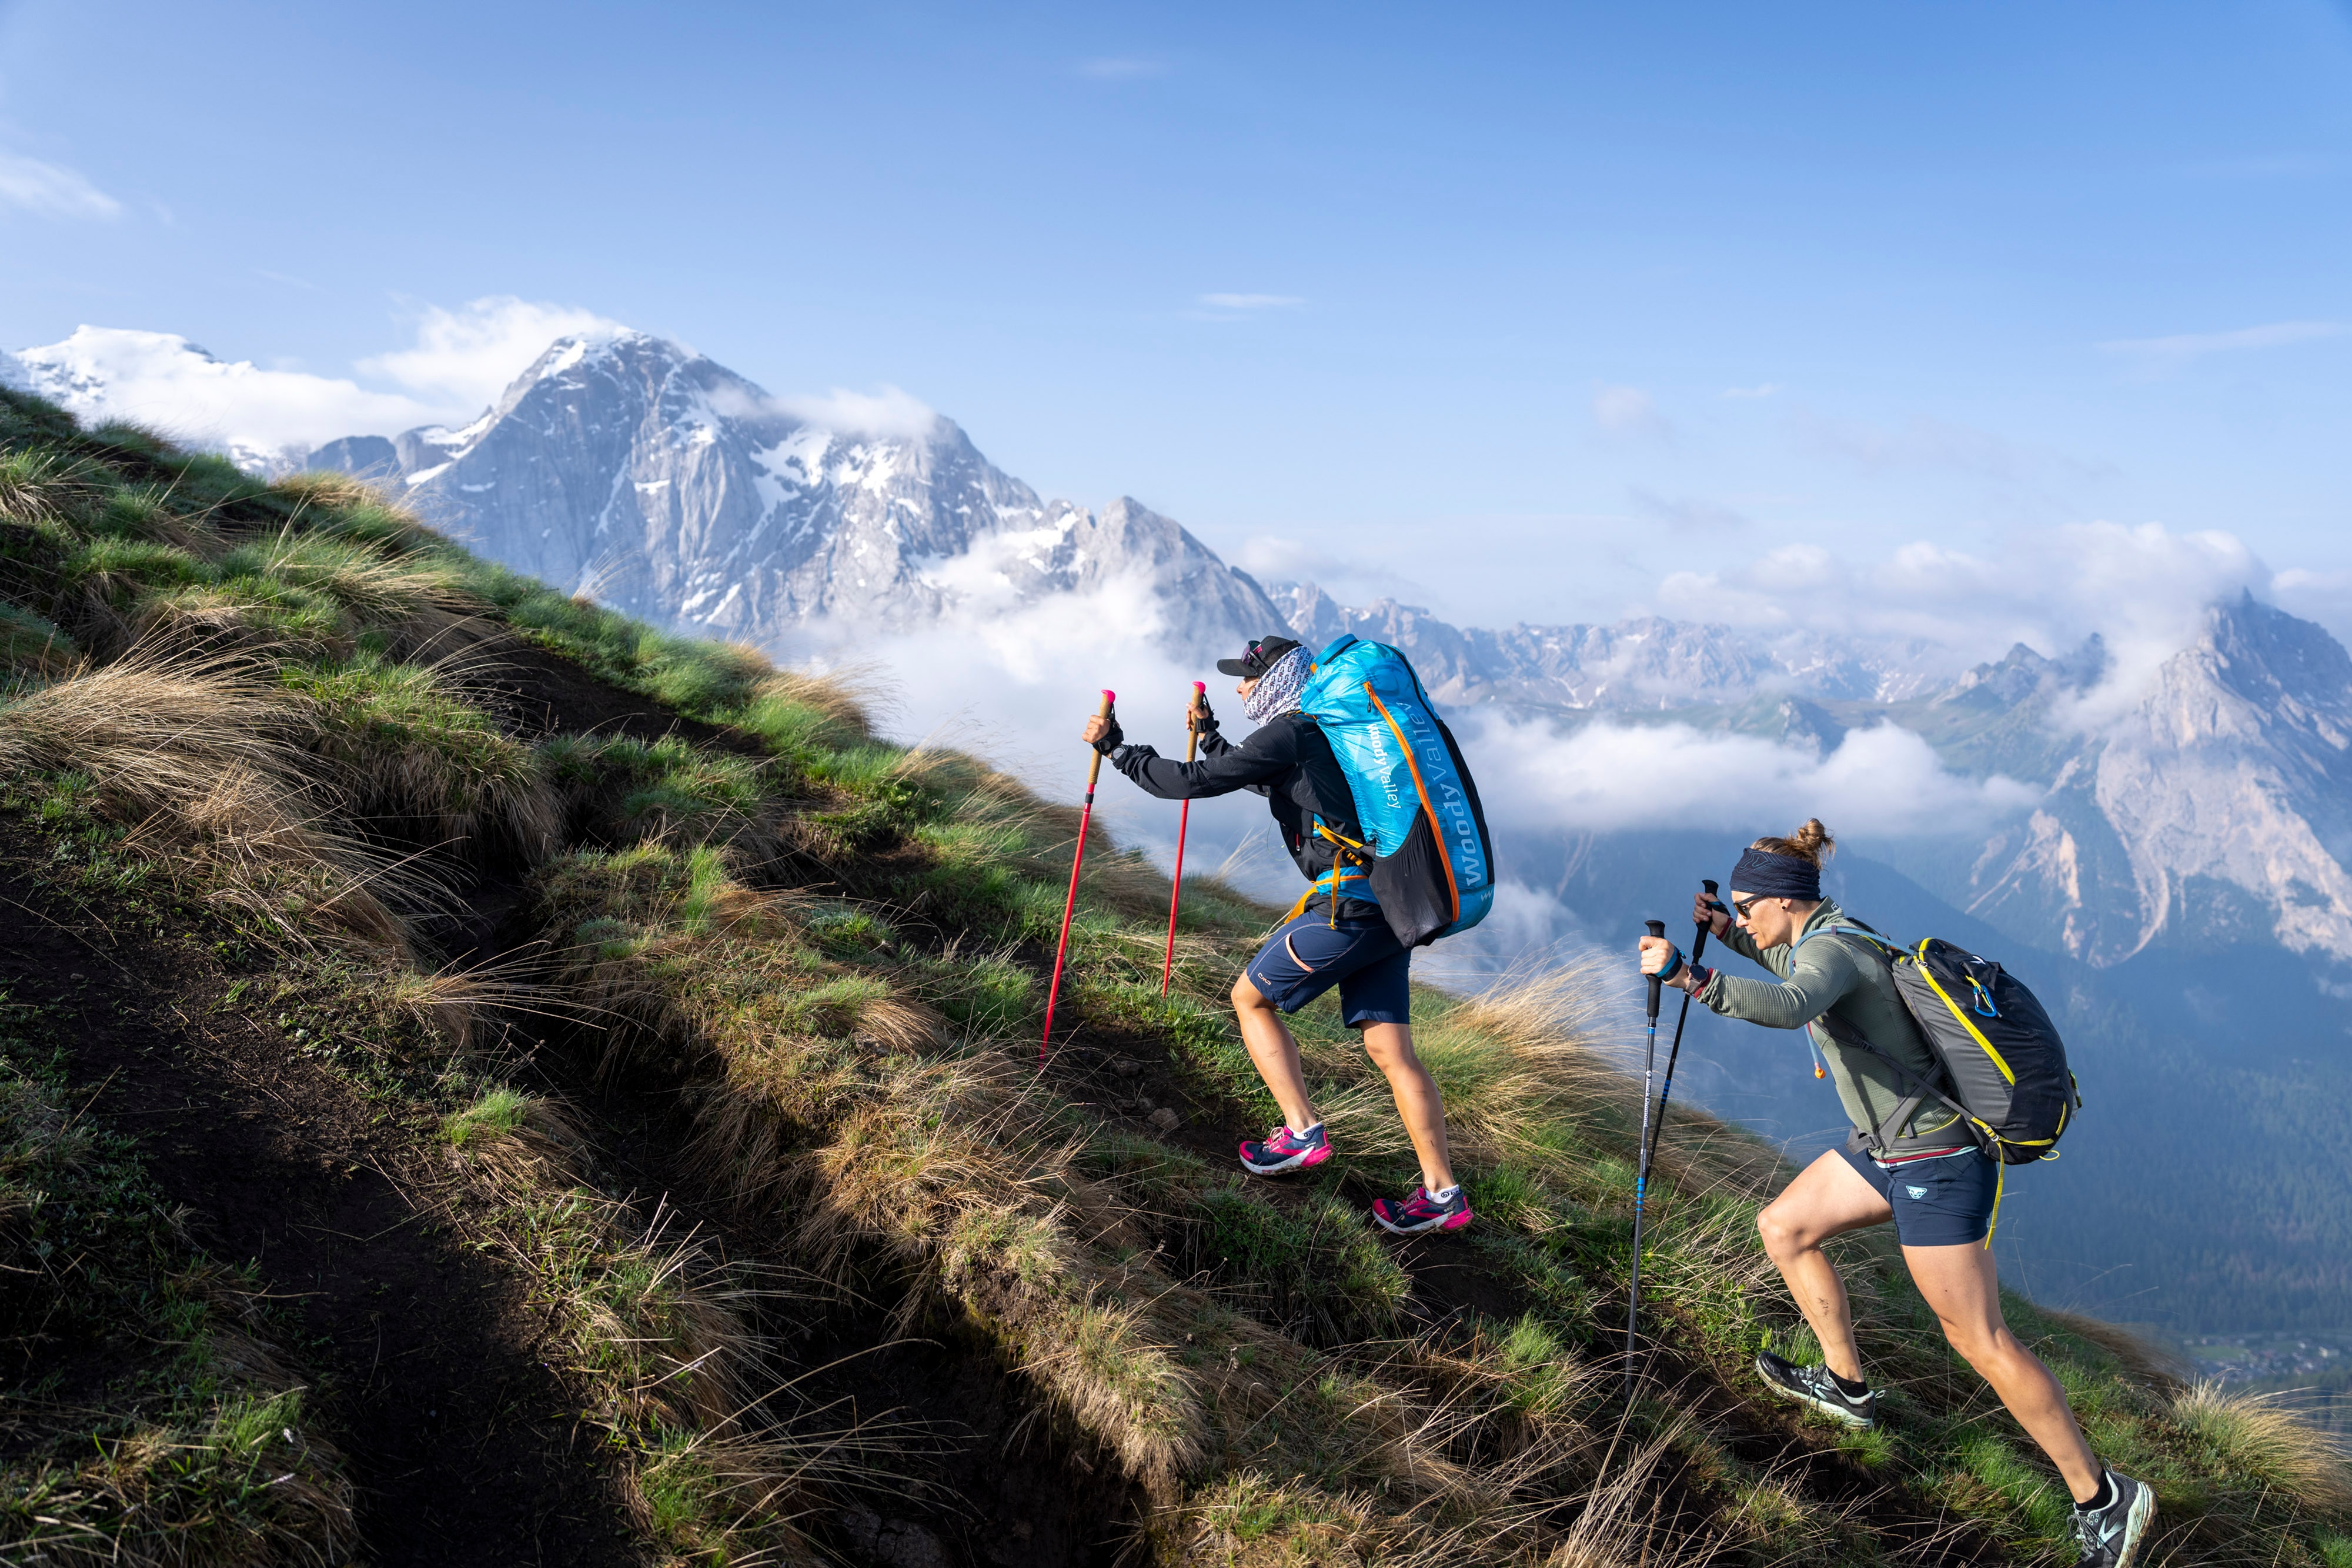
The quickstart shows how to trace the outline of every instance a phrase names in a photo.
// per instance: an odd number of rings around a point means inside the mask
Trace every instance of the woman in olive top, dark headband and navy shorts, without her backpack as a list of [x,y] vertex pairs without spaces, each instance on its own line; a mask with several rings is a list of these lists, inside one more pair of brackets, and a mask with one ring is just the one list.
[[[1642,937],[1644,975],[1658,975],[1724,1017],[1804,1029],[1856,1128],[1844,1149],[1806,1165],[1757,1215],[1764,1250],[1813,1326],[1825,1366],[1792,1366],[1764,1351],[1757,1375],[1780,1398],[1849,1427],[1877,1424],[1879,1396],[1863,1380],[1846,1285],[1820,1243],[1893,1220],[1903,1262],[1936,1309],[1945,1340],[1992,1384],[2065,1476],[2084,1568],[2129,1568],[2157,1516],[2157,1500],[2145,1483],[2100,1467],[2058,1380],[2002,1321],[2002,1288],[1992,1271],[1999,1165],[1976,1147],[1959,1114],[1933,1099],[1905,1125],[1886,1128],[1884,1121],[1903,1109],[1910,1092],[1886,1062],[1837,1041],[1839,1034],[1858,1036],[1917,1081],[1938,1081],[1936,1057],[1896,991],[1884,951],[1865,937],[1839,935],[1839,928],[1870,928],[1820,897],[1820,862],[1830,848],[1830,831],[1818,819],[1792,838],[1757,838],[1731,871],[1733,913],[1726,916],[1705,895],[1691,909],[1691,918],[1705,923],[1717,942],[1778,979],[1736,979],[1689,963],[1665,937]],[[1877,1149],[1872,1128],[1882,1132]]]

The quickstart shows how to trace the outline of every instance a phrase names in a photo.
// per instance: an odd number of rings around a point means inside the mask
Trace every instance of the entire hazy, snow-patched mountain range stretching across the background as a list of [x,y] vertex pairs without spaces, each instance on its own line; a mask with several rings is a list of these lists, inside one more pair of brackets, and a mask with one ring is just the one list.
[[[71,339],[0,356],[0,379],[82,414],[106,410],[103,377],[75,360]],[[1863,885],[1877,909],[1919,923],[1912,935],[1997,946],[2046,986],[2070,1038],[2093,1041],[2110,1114],[2133,1107],[2169,1137],[2225,1128],[2260,1144],[2237,1151],[2232,1180],[2246,1194],[2303,1194],[2267,1217],[2246,1205],[2223,1217],[2199,1208],[2187,1168],[2100,1187],[2098,1165],[2067,1161],[2070,1175],[2044,1189],[2079,1203],[2049,1234],[2089,1260],[2138,1260],[2143,1283],[2234,1281],[2209,1295],[2169,1285],[2169,1302],[2124,1316],[2352,1326],[2352,1201],[2326,1198],[2352,1191],[2352,1132],[2312,1118],[2352,1092],[2352,657],[2277,607],[2213,605],[2136,692],[2105,685],[2098,638],[2051,655],[2018,645],[1962,671],[1926,643],[1658,617],[1463,629],[1397,600],[1350,607],[1315,584],[1261,586],[1134,499],[1101,511],[1040,499],[948,419],[826,424],[637,332],[550,344],[461,428],[233,457],[256,471],[381,478],[517,570],[687,631],[781,647],[823,629],[915,629],[1134,584],[1129,603],[1157,617],[1143,629],[1188,659],[1265,631],[1310,645],[1357,633],[1411,655],[1456,709],[1557,730],[1691,725],[1816,756],[1860,727],[1912,730],[1950,770],[2004,775],[2039,796],[1987,833],[1875,845],[1879,871]],[[2084,706],[2093,692],[2096,711]],[[1611,942],[1628,888],[1656,873],[1670,897],[1668,881],[1684,885],[1698,864],[1665,876],[1656,857],[1672,836],[1573,822],[1503,831],[1515,876]],[[1708,841],[1705,864],[1724,848]],[[1731,1099],[1759,1092],[1736,1071],[1717,1085]],[[2140,1154],[2131,1140],[2114,1149],[2110,1175]],[[2133,1205],[2145,1224],[2126,1241],[2100,1231]],[[2100,1290],[2086,1283],[2084,1300],[2114,1309]],[[2232,1304],[2249,1316],[2227,1318]]]

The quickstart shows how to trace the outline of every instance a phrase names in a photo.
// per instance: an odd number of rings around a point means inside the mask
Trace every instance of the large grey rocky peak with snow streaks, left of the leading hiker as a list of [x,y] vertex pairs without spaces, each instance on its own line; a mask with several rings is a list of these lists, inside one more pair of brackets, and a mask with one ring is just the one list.
[[1141,579],[1171,645],[1279,617],[1247,572],[1141,501],[1044,501],[950,419],[828,428],[680,344],[564,337],[480,419],[346,438],[482,553],[684,631],[781,645]]

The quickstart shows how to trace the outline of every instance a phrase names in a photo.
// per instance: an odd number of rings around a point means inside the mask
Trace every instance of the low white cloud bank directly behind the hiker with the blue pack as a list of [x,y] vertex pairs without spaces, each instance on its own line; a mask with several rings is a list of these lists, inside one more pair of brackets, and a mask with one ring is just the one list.
[[[1232,680],[1209,657],[1176,659],[1160,645],[1164,614],[1143,582],[1047,600],[971,603],[924,631],[849,636],[814,629],[781,650],[847,669],[877,690],[884,732],[910,744],[974,751],[1040,793],[1077,800],[1087,749],[1077,739],[1101,687],[1120,695],[1129,742],[1183,756],[1183,704],[1209,683],[1228,739],[1251,730]],[[1853,730],[1816,756],[1752,735],[1689,725],[1592,723],[1559,730],[1494,709],[1454,713],[1489,822],[1498,836],[1616,833],[1644,829],[1748,829],[1757,819],[1820,815],[1842,831],[1919,836],[1976,831],[2027,810],[2037,789],[2013,779],[1962,779],[1917,735],[1893,725]],[[1178,808],[1103,770],[1096,812],[1124,843],[1162,866],[1176,848]],[[1225,871],[1237,885],[1289,902],[1301,883],[1251,793],[1197,800],[1188,871]],[[1463,944],[1461,965],[1498,972],[1571,930],[1557,899],[1505,888],[1491,932]],[[1456,968],[1461,968],[1456,965]]]

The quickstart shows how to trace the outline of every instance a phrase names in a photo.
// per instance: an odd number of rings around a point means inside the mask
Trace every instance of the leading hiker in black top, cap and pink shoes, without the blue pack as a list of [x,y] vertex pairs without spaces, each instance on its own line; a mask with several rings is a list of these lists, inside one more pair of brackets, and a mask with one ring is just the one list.
[[1374,836],[1357,812],[1348,772],[1324,727],[1301,711],[1315,664],[1291,638],[1268,636],[1240,659],[1218,659],[1216,666],[1240,678],[1235,690],[1242,713],[1258,725],[1240,746],[1218,735],[1216,713],[1204,697],[1195,697],[1190,713],[1200,735],[1197,763],[1176,763],[1150,746],[1124,744],[1117,713],[1089,718],[1084,739],[1162,800],[1200,800],[1237,789],[1265,796],[1275,826],[1282,829],[1282,845],[1310,883],[1232,982],[1242,1043],[1282,1109],[1279,1128],[1242,1144],[1242,1168],[1272,1177],[1312,1170],[1331,1158],[1331,1137],[1298,1067],[1298,1041],[1282,1015],[1298,1012],[1336,984],[1341,1022],[1364,1031],[1364,1052],[1388,1074],[1397,1114],[1421,1158],[1421,1187],[1397,1201],[1374,1198],[1371,1217],[1399,1236],[1458,1231],[1470,1224],[1470,1198],[1454,1180],[1446,1154],[1444,1097],[1414,1055],[1414,954],[1374,897],[1374,855],[1367,850]]

